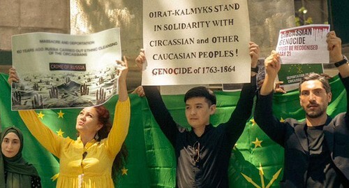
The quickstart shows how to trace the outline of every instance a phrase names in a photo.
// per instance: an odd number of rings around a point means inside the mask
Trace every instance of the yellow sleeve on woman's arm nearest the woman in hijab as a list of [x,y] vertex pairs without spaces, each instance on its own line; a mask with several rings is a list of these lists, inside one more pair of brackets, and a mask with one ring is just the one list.
[[46,150],[56,157],[59,157],[61,144],[64,142],[64,138],[58,136],[50,128],[45,126],[34,110],[20,110],[19,113],[24,124],[36,140],[38,140]]

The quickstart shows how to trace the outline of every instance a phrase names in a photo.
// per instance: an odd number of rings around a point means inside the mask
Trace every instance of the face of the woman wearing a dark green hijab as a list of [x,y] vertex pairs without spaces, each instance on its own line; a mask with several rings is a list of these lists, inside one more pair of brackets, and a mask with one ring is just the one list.
[[20,138],[15,133],[8,133],[1,143],[1,152],[5,157],[12,158],[20,151]]

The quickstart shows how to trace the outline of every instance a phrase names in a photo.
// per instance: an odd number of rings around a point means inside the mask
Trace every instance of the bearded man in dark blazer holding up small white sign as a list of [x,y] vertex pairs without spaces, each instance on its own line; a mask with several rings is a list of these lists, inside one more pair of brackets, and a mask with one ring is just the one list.
[[[327,34],[329,57],[349,93],[349,66],[341,52],[341,38]],[[299,102],[305,120],[280,122],[273,115],[274,80],[281,68],[277,52],[265,59],[265,81],[255,107],[255,122],[285,150],[280,187],[349,187],[349,122],[347,112],[332,119],[327,106],[332,92],[325,76],[312,73],[299,83]]]

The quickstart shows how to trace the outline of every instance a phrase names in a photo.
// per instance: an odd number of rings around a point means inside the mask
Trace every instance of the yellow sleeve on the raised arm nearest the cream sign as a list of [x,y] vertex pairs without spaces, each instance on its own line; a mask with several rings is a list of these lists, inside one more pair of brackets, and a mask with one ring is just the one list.
[[126,101],[117,101],[115,107],[114,120],[112,122],[112,129],[106,138],[107,150],[110,154],[116,156],[121,150],[122,143],[126,139],[128,133],[128,126],[130,126],[131,104],[130,98]]

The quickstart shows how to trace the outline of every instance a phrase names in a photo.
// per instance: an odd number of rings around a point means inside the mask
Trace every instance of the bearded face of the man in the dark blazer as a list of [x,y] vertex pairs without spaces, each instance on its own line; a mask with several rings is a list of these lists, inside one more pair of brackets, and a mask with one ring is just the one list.
[[309,80],[302,83],[299,99],[306,117],[317,118],[326,115],[332,93],[327,94],[319,80]]

